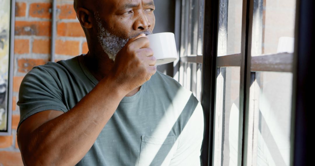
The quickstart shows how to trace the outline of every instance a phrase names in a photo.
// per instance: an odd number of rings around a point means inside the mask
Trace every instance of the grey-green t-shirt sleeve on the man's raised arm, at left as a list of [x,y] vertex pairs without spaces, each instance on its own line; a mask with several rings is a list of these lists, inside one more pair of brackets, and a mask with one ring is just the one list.
[[66,112],[62,98],[62,86],[54,70],[43,66],[33,68],[22,80],[19,90],[20,124],[31,115],[57,110]]

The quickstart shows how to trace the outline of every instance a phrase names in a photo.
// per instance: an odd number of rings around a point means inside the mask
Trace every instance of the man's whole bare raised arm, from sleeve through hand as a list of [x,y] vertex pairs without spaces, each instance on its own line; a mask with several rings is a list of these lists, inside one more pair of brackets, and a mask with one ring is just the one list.
[[36,113],[20,124],[17,140],[25,165],[75,165],[84,157],[122,98],[156,72],[156,60],[143,36],[123,47],[112,74],[75,107],[66,113]]

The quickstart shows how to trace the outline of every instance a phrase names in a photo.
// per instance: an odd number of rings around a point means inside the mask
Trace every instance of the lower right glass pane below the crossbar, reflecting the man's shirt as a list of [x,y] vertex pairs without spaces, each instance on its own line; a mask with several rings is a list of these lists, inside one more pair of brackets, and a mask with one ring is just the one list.
[[248,165],[290,163],[292,73],[256,72],[250,87]]

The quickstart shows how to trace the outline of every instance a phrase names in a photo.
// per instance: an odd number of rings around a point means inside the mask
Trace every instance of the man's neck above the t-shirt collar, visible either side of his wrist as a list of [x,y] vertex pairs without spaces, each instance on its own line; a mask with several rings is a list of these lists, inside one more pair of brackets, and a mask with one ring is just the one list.
[[[92,54],[87,53],[84,55],[85,66],[89,69],[90,73],[100,81],[107,77],[112,70],[114,61],[108,58],[105,53],[102,54]],[[140,86],[130,91],[126,97],[135,95],[140,90]]]

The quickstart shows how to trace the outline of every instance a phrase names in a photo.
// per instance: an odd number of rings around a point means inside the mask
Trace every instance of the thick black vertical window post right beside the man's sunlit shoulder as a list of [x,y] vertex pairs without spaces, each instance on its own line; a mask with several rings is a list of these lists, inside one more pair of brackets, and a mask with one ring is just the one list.
[[215,102],[215,58],[218,42],[218,8],[219,0],[205,0],[204,34],[203,34],[203,70],[201,104],[205,117],[205,132],[201,151],[202,164],[212,163],[213,116]]

